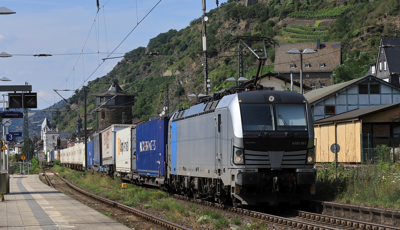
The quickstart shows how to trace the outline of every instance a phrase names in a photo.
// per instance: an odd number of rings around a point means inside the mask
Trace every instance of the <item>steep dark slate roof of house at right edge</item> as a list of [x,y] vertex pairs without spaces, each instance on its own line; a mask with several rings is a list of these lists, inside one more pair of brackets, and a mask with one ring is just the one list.
[[384,49],[386,55],[386,63],[390,73],[400,73],[400,37],[381,37],[380,45],[394,45],[395,47],[379,48]]

